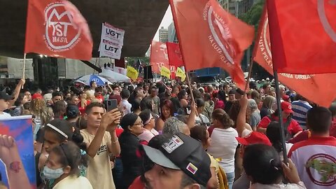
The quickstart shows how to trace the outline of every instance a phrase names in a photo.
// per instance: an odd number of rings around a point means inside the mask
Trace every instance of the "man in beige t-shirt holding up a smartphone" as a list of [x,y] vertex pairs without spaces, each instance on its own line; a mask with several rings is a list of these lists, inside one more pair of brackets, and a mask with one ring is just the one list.
[[87,128],[80,130],[87,145],[87,154],[92,158],[87,167],[87,179],[93,188],[116,188],[110,164],[110,155],[120,154],[120,144],[116,127],[120,123],[121,113],[113,109],[104,113],[104,105],[94,102],[86,106]]

